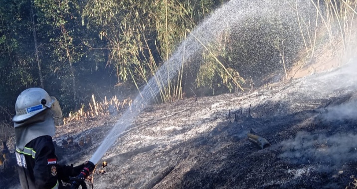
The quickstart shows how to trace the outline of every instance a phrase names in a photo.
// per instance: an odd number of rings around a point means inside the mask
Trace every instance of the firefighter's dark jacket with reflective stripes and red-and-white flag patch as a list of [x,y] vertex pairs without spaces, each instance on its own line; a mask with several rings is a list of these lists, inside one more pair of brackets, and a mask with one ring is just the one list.
[[25,145],[16,147],[18,174],[22,189],[62,189],[62,182],[72,176],[73,165],[57,164],[50,136],[39,136]]

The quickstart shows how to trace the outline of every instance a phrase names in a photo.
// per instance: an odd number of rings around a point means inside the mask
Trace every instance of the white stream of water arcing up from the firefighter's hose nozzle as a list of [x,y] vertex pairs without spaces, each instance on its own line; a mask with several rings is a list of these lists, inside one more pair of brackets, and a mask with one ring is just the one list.
[[[246,7],[247,10],[236,10],[235,7]],[[207,49],[207,44],[217,40],[217,36],[226,30],[235,30],[242,25],[242,20],[252,15],[265,15],[273,13],[274,8],[269,0],[264,1],[240,1],[231,0],[223,7],[215,11],[204,22],[200,23],[189,36],[178,46],[174,54],[163,64],[147,85],[135,98],[132,105],[124,112],[122,117],[113,126],[101,145],[90,159],[94,165],[104,156],[107,150],[115,143],[116,139],[133,122],[134,118],[149,104],[153,103],[160,91],[168,86],[169,80],[179,74],[182,63],[187,64],[194,60],[197,54]],[[222,18],[225,18],[224,20]],[[237,32],[239,30],[236,30]],[[184,52],[185,56],[182,56]],[[216,57],[215,57],[216,58]],[[216,58],[217,59],[217,58]],[[217,59],[217,61],[219,61]],[[220,62],[219,62],[220,63]],[[221,63],[220,63],[221,64]],[[221,64],[223,66],[223,64]],[[224,68],[224,66],[223,66]],[[227,72],[229,74],[229,72]],[[230,76],[232,77],[232,76]],[[168,78],[168,80],[163,79]],[[160,81],[160,82],[157,82]]]

